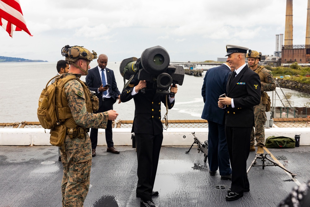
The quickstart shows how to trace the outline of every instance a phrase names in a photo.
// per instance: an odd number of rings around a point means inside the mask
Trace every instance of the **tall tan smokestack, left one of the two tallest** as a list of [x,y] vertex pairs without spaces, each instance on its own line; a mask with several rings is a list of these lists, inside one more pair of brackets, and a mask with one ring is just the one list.
[[293,0],[286,0],[284,45],[293,46]]

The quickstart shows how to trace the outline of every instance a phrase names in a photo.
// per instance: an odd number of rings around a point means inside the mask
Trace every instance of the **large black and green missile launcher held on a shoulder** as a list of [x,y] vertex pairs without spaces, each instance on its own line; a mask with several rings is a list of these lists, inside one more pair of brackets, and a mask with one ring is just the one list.
[[182,85],[184,80],[184,68],[180,65],[170,65],[169,54],[161,46],[145,49],[139,59],[136,57],[124,59],[119,71],[124,82],[125,79],[131,81],[137,75],[138,80],[154,83],[153,88],[156,89],[156,93],[170,94],[170,97],[174,96],[169,92],[171,84]]

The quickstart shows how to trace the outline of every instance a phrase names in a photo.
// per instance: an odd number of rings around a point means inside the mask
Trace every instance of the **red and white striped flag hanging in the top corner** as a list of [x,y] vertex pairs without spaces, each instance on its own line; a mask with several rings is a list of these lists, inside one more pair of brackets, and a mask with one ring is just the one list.
[[0,26],[10,37],[13,37],[13,31],[25,31],[32,36],[27,29],[19,0],[0,0]]

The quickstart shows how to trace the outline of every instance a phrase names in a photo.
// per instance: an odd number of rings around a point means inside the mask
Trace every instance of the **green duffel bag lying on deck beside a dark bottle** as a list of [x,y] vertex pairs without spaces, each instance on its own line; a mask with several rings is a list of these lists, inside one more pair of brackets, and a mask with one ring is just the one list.
[[290,137],[268,137],[265,141],[267,148],[295,148],[295,140]]

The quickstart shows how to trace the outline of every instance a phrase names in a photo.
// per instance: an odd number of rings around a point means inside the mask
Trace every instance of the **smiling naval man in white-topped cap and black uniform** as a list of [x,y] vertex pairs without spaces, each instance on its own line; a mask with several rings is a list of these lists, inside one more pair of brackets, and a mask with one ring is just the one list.
[[250,191],[246,174],[246,160],[250,153],[250,138],[254,126],[255,105],[260,102],[259,75],[246,65],[246,52],[249,48],[226,45],[229,65],[235,71],[229,75],[227,96],[219,98],[218,106],[226,108],[225,134],[232,167],[232,185],[226,200],[237,200],[243,192]]

